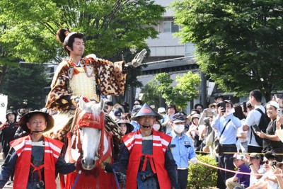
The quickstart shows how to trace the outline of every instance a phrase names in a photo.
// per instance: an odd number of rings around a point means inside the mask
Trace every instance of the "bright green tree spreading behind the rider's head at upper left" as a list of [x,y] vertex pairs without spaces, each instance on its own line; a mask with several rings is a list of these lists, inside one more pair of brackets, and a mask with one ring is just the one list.
[[[164,11],[149,0],[1,0],[0,25],[5,27],[0,27],[0,46],[4,47],[5,56],[0,57],[0,64],[8,58],[59,62],[67,56],[55,38],[59,28],[84,33],[86,55],[94,52],[110,61],[124,55],[129,62],[134,57],[130,49],[138,52],[146,47],[147,38],[156,38],[154,26]],[[140,70],[133,72],[141,74]],[[0,79],[4,73],[0,71]],[[136,77],[129,78],[134,78],[131,85],[141,85]]]

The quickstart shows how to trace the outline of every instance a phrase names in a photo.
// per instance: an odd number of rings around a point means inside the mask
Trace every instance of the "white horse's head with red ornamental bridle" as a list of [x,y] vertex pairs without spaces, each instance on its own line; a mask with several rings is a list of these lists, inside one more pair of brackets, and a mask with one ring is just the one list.
[[97,166],[101,150],[103,150],[100,146],[100,138],[104,134],[103,104],[103,101],[88,102],[88,99],[83,97],[79,101],[81,113],[77,120],[77,127],[81,142],[81,165],[86,170]]

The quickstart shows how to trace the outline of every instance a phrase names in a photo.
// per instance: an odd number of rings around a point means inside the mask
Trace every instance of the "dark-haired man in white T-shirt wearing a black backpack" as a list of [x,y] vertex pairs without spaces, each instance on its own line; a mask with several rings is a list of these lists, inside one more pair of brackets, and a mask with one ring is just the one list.
[[[262,101],[262,93],[260,90],[255,89],[253,91],[250,91],[249,95],[249,101],[250,104],[255,107],[255,109],[259,109],[262,111],[262,113],[265,113],[265,108],[261,105]],[[243,131],[248,131],[248,153],[261,153],[262,146],[258,144],[255,140],[255,132],[252,131],[253,125],[259,125],[261,113],[258,110],[251,110],[248,113],[248,116],[246,118],[246,122],[243,125]]]

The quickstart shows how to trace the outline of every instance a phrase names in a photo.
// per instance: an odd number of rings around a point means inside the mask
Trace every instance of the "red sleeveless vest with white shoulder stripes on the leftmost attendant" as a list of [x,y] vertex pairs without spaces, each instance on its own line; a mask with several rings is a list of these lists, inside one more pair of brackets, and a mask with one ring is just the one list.
[[[56,189],[55,183],[55,164],[61,153],[63,143],[55,139],[44,137],[45,154],[44,154],[44,176],[45,188]],[[10,142],[11,147],[15,149],[18,159],[15,166],[15,180],[13,188],[25,189],[28,185],[28,174],[30,171],[31,160],[31,137],[21,137]]]

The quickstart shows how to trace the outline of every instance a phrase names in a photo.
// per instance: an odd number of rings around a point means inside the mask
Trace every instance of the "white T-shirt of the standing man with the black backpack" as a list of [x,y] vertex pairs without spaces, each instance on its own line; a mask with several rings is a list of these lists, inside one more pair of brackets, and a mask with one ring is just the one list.
[[[255,109],[256,108],[260,108],[260,110],[262,110],[262,112],[265,113],[265,108],[262,105],[255,105]],[[248,113],[245,125],[248,125],[248,127],[251,127],[252,125],[255,125],[255,124],[259,125],[260,117],[261,117],[261,113],[258,110],[251,110]],[[253,135],[253,133],[252,133],[252,139],[250,140],[250,132],[252,132],[252,130],[249,128],[248,129],[248,146],[260,147],[258,142],[255,141],[255,136]]]

